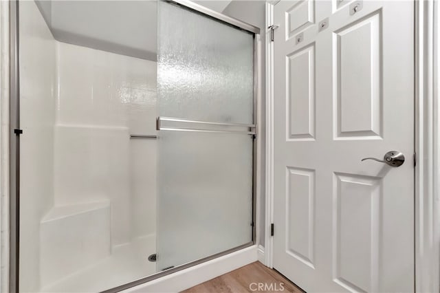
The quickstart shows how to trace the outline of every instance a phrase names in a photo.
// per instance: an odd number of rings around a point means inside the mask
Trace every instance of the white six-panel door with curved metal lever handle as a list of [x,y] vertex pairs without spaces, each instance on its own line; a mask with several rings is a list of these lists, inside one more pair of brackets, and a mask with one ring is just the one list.
[[307,292],[414,291],[413,6],[275,5],[274,268]]

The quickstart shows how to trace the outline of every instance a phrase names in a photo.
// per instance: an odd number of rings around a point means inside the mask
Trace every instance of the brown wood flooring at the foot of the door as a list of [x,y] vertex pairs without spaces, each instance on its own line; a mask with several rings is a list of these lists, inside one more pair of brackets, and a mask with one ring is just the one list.
[[295,292],[303,293],[284,276],[256,261],[183,293]]

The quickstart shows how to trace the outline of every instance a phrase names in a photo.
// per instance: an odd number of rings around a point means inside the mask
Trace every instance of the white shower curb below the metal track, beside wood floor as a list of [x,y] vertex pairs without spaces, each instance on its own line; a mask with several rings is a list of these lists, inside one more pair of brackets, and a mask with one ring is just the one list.
[[243,265],[248,265],[259,259],[257,246],[243,248],[236,252],[223,255],[217,259],[200,263],[162,278],[149,281],[142,285],[124,290],[125,293],[143,292],[181,292],[200,283],[214,279]]

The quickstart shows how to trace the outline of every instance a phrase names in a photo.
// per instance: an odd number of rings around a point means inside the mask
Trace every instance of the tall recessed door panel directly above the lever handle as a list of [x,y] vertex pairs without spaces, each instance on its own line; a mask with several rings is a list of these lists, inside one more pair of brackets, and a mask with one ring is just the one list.
[[333,34],[338,138],[380,138],[380,12]]

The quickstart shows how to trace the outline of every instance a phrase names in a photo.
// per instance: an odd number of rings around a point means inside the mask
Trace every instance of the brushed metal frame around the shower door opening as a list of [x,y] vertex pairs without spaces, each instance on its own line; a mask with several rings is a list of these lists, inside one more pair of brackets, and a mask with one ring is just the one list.
[[[161,0],[159,0],[161,1]],[[190,263],[185,263],[183,265],[179,265],[176,268],[172,268],[170,270],[166,270],[164,272],[158,272],[156,274],[152,274],[150,276],[146,276],[142,279],[137,279],[130,283],[126,283],[120,285],[118,287],[113,287],[109,290],[105,290],[104,292],[120,292],[121,290],[126,290],[130,287],[134,287],[136,285],[140,285],[146,283],[148,281],[152,281],[154,279],[158,279],[162,276],[166,276],[168,274],[173,274],[174,272],[178,272],[180,270],[184,270],[186,268],[190,268],[199,263],[204,263],[211,259],[216,259],[225,254],[230,254],[231,252],[235,252],[237,250],[241,250],[243,248],[247,248],[249,246],[253,246],[256,241],[256,191],[257,184],[259,184],[256,180],[257,176],[257,146],[259,145],[260,136],[259,135],[259,127],[257,123],[258,115],[257,115],[257,103],[259,101],[259,70],[261,68],[260,59],[259,59],[259,40],[260,40],[260,29],[255,27],[254,25],[250,25],[243,21],[239,21],[238,19],[234,19],[232,17],[228,17],[224,14],[216,12],[214,10],[210,10],[203,6],[198,5],[197,3],[193,3],[192,1],[187,0],[162,0],[168,1],[170,3],[175,3],[178,6],[182,6],[183,9],[189,9],[194,12],[198,12],[205,17],[209,17],[211,19],[215,19],[217,21],[221,21],[226,25],[231,25],[235,28],[239,28],[241,30],[245,30],[247,32],[251,32],[254,36],[254,88],[253,88],[253,96],[254,96],[254,113],[253,119],[254,122],[252,124],[255,139],[253,140],[252,146],[252,157],[253,157],[253,169],[252,169],[252,241],[249,243],[245,243],[242,246],[238,246],[236,248],[231,248],[230,250],[226,250],[224,252],[220,252],[218,254],[214,254],[210,257],[206,257],[203,259],[199,259],[197,261],[192,261]],[[9,239],[9,248],[10,248],[10,257],[9,257],[9,292],[19,292],[19,245],[20,245],[20,78],[19,78],[19,68],[20,68],[20,60],[19,60],[19,0],[11,0],[10,4],[10,206],[9,206],[9,226],[10,226],[10,239]],[[132,135],[132,138],[139,138],[142,135]],[[144,137],[142,137],[144,138]]]

